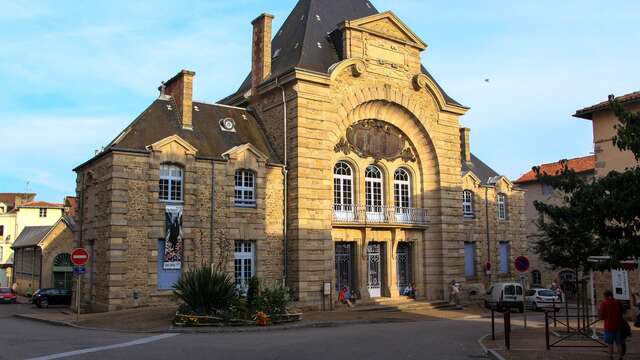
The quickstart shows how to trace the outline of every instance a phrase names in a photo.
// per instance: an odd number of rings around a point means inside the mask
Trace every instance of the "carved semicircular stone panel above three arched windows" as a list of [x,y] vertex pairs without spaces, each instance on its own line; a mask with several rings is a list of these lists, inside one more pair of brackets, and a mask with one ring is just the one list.
[[345,137],[338,141],[336,152],[345,155],[351,152],[364,158],[376,161],[385,159],[393,161],[416,161],[413,150],[408,146],[405,136],[393,125],[379,120],[362,120],[347,129]]

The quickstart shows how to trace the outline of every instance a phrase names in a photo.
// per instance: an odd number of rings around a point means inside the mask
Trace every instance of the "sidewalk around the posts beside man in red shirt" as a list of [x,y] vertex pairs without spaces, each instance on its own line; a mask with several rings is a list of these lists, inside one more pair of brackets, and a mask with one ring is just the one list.
[[[500,329],[500,330],[498,330]],[[632,327],[633,335],[627,341],[627,355],[625,359],[640,359],[640,331]],[[550,342],[560,340],[553,333],[550,334]],[[546,350],[546,336],[544,326],[535,326],[528,329],[513,327],[511,332],[511,351],[507,350],[504,343],[504,333],[502,323],[496,324],[496,340],[491,336],[484,339],[483,345],[487,349],[495,350],[506,360],[601,360],[608,359],[606,348],[585,348],[585,347],[552,347]],[[597,345],[589,340],[565,340],[558,343],[561,345]],[[495,358],[495,357],[494,357]],[[615,357],[618,358],[617,356]],[[499,359],[499,358],[498,358]]]

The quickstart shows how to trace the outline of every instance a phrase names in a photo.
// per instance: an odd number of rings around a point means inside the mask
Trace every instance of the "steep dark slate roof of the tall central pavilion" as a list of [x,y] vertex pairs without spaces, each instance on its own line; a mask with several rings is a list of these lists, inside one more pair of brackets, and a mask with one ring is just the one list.
[[[300,0],[289,14],[273,39],[271,78],[276,78],[294,68],[329,73],[329,68],[340,62],[341,45],[334,44],[329,34],[346,20],[356,20],[378,14],[378,10],[367,0]],[[320,44],[322,47],[318,47]],[[433,80],[450,105],[462,106],[438,85],[431,74],[422,67],[422,72]],[[240,88],[229,97],[220,100],[229,103],[239,94],[251,88],[251,74]]]

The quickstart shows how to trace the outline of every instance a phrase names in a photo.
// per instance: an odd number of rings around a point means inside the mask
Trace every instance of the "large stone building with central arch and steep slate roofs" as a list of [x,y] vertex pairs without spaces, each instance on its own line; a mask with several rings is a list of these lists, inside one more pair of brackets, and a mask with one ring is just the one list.
[[209,263],[239,288],[284,279],[307,308],[342,286],[367,302],[415,283],[441,300],[452,280],[479,295],[513,278],[524,192],[471,155],[468,108],[422,67],[427,45],[360,0],[300,1],[273,41],[272,19],[253,21],[236,93],[195,102],[181,71],[75,169],[85,305],[170,301]]

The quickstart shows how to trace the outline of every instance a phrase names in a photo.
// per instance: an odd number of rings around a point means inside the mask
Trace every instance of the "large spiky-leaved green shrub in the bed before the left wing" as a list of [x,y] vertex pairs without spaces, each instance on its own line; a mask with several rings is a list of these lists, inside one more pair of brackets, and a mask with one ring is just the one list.
[[237,304],[236,288],[228,274],[210,266],[190,269],[173,286],[174,294],[196,315],[227,313]]

